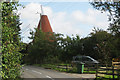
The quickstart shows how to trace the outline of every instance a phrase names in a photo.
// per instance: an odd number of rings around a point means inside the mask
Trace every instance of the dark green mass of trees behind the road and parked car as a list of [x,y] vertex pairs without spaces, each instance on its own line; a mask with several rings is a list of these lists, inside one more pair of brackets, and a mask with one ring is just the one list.
[[114,35],[102,29],[94,28],[89,37],[85,38],[80,38],[78,35],[64,38],[62,34],[54,34],[54,37],[48,39],[48,37],[46,38],[48,33],[41,30],[34,34],[31,33],[33,42],[28,49],[28,58],[32,60],[31,64],[71,63],[73,56],[76,55],[91,56],[102,63],[108,63],[112,58],[119,56]]

